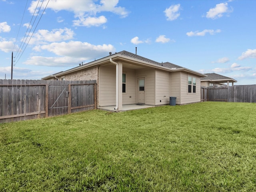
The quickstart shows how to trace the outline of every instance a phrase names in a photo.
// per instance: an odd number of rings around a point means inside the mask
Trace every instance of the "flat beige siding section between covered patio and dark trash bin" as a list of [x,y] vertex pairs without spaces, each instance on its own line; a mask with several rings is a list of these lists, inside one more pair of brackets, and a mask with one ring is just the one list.
[[169,93],[170,93],[169,72],[156,70],[156,105],[168,104]]

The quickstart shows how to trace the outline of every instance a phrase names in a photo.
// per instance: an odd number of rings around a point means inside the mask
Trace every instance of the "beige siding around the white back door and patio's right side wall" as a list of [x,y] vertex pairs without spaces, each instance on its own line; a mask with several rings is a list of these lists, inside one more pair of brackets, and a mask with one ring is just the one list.
[[145,77],[145,104],[155,105],[155,70],[142,69],[136,71],[136,94],[138,94],[138,78],[140,77]]

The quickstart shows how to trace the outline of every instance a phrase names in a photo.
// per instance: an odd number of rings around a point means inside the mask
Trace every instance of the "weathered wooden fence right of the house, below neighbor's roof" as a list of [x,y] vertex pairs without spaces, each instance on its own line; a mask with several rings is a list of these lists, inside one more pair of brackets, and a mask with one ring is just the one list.
[[256,85],[201,86],[201,102],[204,101],[256,103]]

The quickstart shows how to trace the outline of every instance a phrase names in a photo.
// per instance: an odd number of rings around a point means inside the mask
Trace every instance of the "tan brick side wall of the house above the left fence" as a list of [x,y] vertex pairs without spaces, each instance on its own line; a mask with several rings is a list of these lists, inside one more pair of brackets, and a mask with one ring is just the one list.
[[96,82],[97,82],[97,107],[99,106],[99,68],[98,67],[74,72],[72,74],[66,74],[65,76],[62,76],[62,77],[65,77],[65,80],[67,80],[67,81],[96,80]]

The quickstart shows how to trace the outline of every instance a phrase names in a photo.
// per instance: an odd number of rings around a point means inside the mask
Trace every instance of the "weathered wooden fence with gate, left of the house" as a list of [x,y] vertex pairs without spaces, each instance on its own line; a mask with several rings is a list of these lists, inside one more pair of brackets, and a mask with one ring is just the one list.
[[0,123],[97,108],[96,80],[0,80]]

